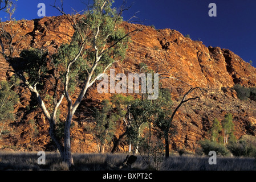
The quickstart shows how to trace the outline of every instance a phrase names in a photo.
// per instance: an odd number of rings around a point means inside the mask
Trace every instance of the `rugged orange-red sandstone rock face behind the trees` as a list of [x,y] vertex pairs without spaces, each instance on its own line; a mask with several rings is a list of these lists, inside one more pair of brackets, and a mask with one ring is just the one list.
[[[183,94],[192,86],[202,88],[190,96],[200,96],[199,100],[188,102],[178,110],[174,118],[177,134],[172,137],[171,149],[176,150],[184,146],[186,150],[193,151],[198,146],[198,140],[209,137],[208,131],[213,119],[221,121],[226,113],[233,114],[237,138],[245,134],[255,135],[256,102],[239,100],[231,89],[234,84],[256,86],[254,67],[229,49],[206,47],[202,42],[185,38],[176,30],[155,30],[152,27],[129,23],[123,23],[123,26],[126,30],[140,28],[141,31],[132,36],[127,58],[123,63],[112,65],[116,73],[137,73],[139,63],[146,63],[155,72],[168,73],[169,76],[182,80],[161,80],[162,87],[171,90],[174,106],[177,106]],[[14,55],[31,47],[56,52],[58,47],[62,43],[68,43],[74,34],[72,26],[64,16],[21,20],[17,24],[7,26],[7,30],[19,30],[13,42],[18,44]],[[0,57],[0,63],[0,79],[5,80],[11,68],[3,57]],[[47,90],[47,82],[44,90]],[[17,119],[7,126],[11,133],[3,135],[0,147],[15,146],[15,149],[22,151],[53,150],[48,135],[48,122],[31,100],[29,90],[20,87],[17,92],[21,94],[20,103],[15,107]],[[75,126],[71,130],[73,152],[97,152],[92,135],[84,129],[91,121],[88,108],[97,106],[101,100],[110,96],[111,94],[97,93],[95,86],[90,88],[74,116]],[[65,118],[66,105],[63,104],[60,109],[60,118]],[[32,138],[32,142],[28,124],[30,119],[36,121],[39,130],[39,135]],[[124,127],[120,123],[115,137],[119,138],[123,132]],[[111,146],[106,150],[111,150]],[[120,150],[127,150],[125,142],[120,144]]]

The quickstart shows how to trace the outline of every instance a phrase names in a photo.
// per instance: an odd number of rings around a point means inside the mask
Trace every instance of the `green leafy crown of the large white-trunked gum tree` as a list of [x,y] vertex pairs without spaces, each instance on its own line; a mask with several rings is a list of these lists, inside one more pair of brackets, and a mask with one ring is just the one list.
[[[104,2],[94,1],[94,5],[85,13],[86,18],[80,19],[76,24],[71,42],[62,44],[57,53],[48,56],[50,58],[46,59],[49,53],[42,49],[21,52],[20,56],[26,62],[23,74],[29,78],[31,85],[51,75],[55,78],[53,84],[58,83],[56,86],[63,89],[64,82],[67,81],[68,65],[72,63],[68,70],[68,92],[72,94],[76,86],[87,80],[95,61],[97,66],[91,79],[102,73],[107,65],[124,59],[129,36],[125,36],[124,28],[119,26],[123,18],[116,8],[111,8],[113,1],[105,2],[101,11]],[[81,50],[82,43],[86,46]],[[51,71],[54,73],[50,73]]]

